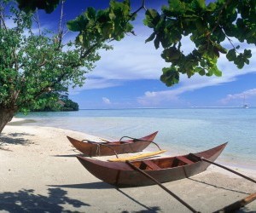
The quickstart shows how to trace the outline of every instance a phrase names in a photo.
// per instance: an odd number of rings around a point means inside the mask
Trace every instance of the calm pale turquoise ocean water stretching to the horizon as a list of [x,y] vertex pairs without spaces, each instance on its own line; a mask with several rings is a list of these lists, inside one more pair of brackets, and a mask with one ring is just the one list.
[[[218,160],[256,170],[256,108],[79,110],[17,117],[35,121],[24,125],[77,130],[109,140],[158,130],[154,141],[171,155],[195,153],[228,141]],[[150,150],[156,149],[150,146]]]

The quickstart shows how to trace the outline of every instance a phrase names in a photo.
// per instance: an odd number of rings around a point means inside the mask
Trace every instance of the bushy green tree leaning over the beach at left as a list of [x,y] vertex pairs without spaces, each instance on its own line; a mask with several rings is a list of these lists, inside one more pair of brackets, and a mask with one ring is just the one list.
[[26,112],[50,101],[42,95],[55,98],[55,91],[82,85],[84,73],[100,59],[96,49],[108,49],[103,44],[94,49],[63,44],[62,31],[34,34],[32,15],[17,9],[13,1],[0,2],[0,133],[18,110]]

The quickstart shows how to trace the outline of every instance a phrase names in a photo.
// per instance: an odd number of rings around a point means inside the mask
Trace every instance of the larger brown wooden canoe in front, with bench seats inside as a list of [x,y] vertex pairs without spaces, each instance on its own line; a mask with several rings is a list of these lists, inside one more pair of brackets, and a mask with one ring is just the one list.
[[[187,154],[176,157],[151,158],[144,160],[129,161],[140,170],[154,177],[157,181],[168,182],[183,179],[189,176],[195,176],[210,165],[199,158],[206,158],[214,161],[222,153],[227,143],[214,147],[201,153]],[[154,181],[143,176],[142,173],[131,168],[131,165],[125,162],[108,162],[92,158],[77,156],[84,168],[102,181],[117,187],[136,187],[155,184]]]

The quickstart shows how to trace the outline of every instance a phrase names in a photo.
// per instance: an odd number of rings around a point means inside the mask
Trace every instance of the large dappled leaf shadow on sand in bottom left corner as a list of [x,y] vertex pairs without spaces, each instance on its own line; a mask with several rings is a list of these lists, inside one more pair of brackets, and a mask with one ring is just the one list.
[[0,193],[0,210],[8,212],[72,212],[64,210],[61,204],[71,204],[75,208],[90,206],[76,199],[69,199],[61,188],[49,188],[49,196],[35,194],[32,189],[16,193]]

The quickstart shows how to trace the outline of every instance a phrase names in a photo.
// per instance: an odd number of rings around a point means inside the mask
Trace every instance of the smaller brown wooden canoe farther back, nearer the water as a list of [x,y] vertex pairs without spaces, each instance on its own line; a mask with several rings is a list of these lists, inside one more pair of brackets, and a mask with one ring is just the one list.
[[67,139],[73,144],[73,147],[78,149],[86,156],[108,156],[122,153],[137,153],[143,151],[157,135],[158,131],[138,139],[127,141],[79,141],[67,136]]

